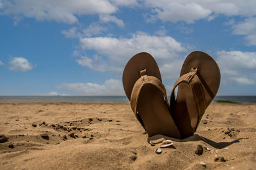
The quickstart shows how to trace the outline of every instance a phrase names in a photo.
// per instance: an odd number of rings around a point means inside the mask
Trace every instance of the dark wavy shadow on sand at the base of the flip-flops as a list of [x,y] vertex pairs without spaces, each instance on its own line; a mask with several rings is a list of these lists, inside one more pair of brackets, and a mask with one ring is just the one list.
[[211,145],[212,147],[216,148],[216,149],[222,149],[225,148],[229,145],[232,145],[233,143],[239,143],[239,141],[241,139],[248,139],[248,138],[239,138],[239,139],[235,139],[234,141],[230,141],[230,142],[214,142],[210,139],[204,138],[198,134],[194,134],[193,136],[189,136],[188,138],[185,139],[175,139],[175,138],[170,138],[168,136],[164,136],[161,134],[157,134],[155,136],[152,136],[150,138],[148,138],[148,143],[162,143],[163,140],[166,139],[170,139],[172,141],[177,141],[177,142],[188,142],[188,141],[204,141],[205,143],[207,143],[208,145]]

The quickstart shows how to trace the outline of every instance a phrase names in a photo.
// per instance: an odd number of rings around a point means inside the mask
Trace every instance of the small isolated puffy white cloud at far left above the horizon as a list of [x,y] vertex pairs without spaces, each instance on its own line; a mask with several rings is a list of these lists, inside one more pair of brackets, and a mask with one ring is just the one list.
[[33,68],[32,64],[23,57],[13,57],[10,60],[10,67],[11,71],[28,71]]

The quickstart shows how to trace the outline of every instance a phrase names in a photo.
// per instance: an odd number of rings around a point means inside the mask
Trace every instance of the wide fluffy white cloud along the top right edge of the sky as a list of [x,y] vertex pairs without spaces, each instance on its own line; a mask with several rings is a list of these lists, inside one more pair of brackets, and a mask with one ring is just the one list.
[[250,0],[181,0],[181,1],[168,1],[168,0],[144,0],[145,5],[152,10],[149,20],[160,19],[163,21],[177,22],[185,21],[193,23],[195,20],[205,18],[212,20],[216,15],[243,15],[250,17],[255,15],[256,5],[255,1]]

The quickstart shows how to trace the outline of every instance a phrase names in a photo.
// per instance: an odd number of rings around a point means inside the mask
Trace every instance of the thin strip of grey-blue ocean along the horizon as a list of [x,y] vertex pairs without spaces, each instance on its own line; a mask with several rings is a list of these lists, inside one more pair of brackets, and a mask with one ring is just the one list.
[[[0,101],[129,102],[126,96],[0,96]],[[216,96],[217,101],[256,103],[256,96]]]

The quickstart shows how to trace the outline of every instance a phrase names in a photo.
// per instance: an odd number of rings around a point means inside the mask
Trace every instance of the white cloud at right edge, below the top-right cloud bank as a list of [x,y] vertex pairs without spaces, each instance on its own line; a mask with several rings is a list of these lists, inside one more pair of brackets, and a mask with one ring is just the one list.
[[244,22],[234,24],[233,34],[245,36],[248,45],[256,45],[256,17],[246,18]]

